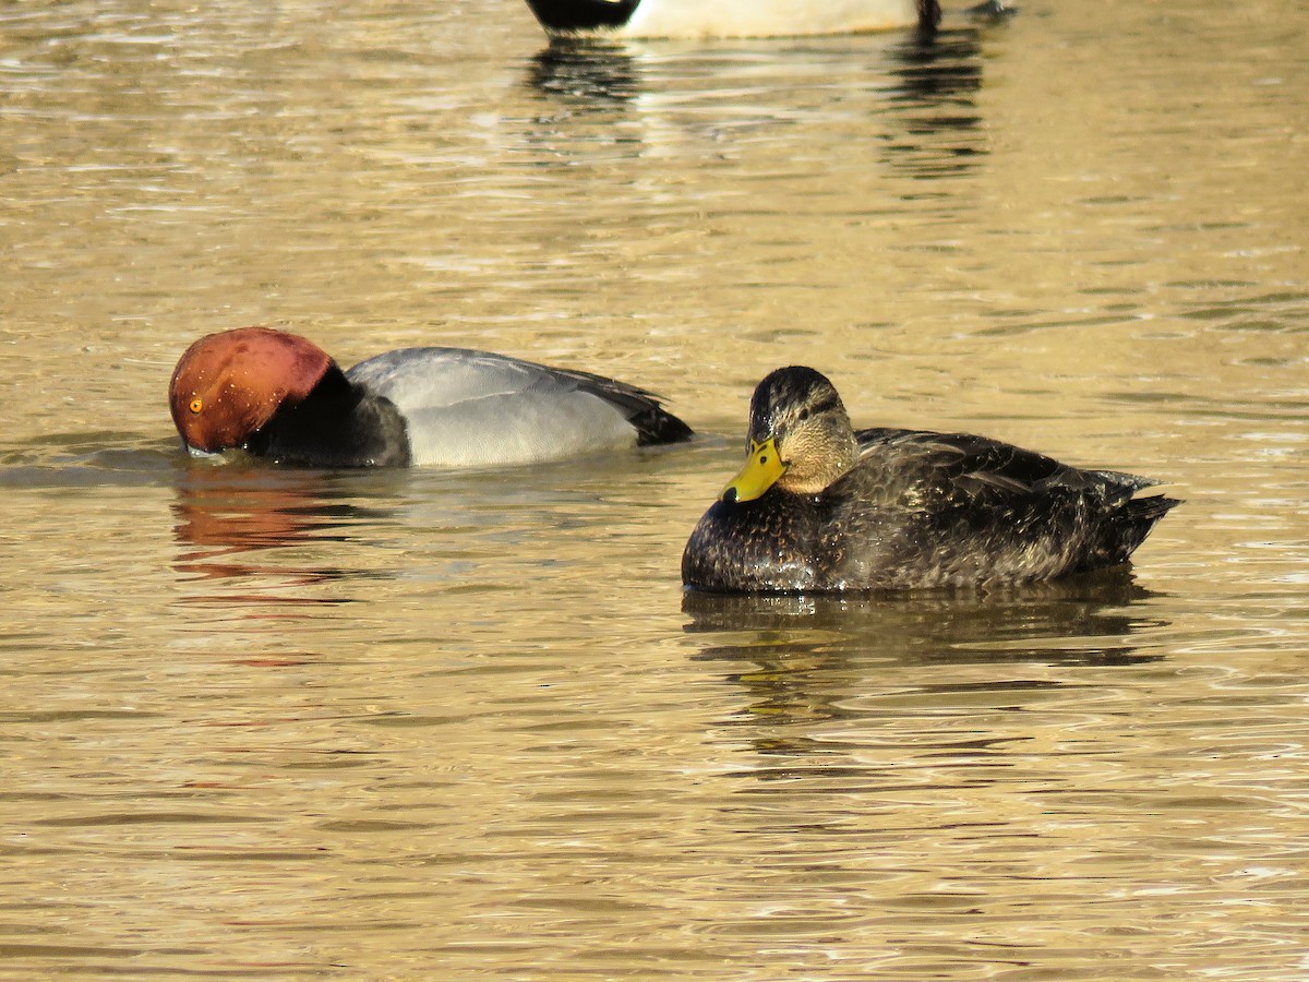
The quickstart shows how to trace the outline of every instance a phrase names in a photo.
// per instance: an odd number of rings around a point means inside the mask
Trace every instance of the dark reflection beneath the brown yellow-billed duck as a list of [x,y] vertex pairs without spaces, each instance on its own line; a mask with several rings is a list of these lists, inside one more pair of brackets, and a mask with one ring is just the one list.
[[[870,676],[894,685],[889,680],[903,673],[912,689],[929,695],[1016,685],[1000,676],[944,681],[958,678],[950,669],[961,665],[1158,660],[1162,656],[1132,643],[1138,632],[1161,626],[1141,606],[1151,596],[1128,571],[1114,570],[987,594],[691,592],[683,611],[691,617],[685,630],[704,635],[698,657],[736,666],[726,680],[749,693],[742,721],[812,723],[865,715],[852,704],[867,695]],[[1021,682],[1025,689],[1041,685]]]

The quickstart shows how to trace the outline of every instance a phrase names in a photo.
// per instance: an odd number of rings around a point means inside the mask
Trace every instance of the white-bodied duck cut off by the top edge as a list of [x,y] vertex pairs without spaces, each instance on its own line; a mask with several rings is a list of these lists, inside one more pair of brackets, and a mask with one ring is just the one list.
[[528,0],[550,38],[770,38],[935,29],[937,0]]

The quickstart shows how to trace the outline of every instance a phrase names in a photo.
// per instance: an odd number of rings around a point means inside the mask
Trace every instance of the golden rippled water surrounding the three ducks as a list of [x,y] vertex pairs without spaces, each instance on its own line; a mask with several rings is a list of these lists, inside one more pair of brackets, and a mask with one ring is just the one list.
[[[1299,5],[546,48],[0,12],[0,972],[1309,973]],[[689,448],[213,466],[194,336],[618,374]],[[1172,482],[1131,575],[683,597],[768,369]]]

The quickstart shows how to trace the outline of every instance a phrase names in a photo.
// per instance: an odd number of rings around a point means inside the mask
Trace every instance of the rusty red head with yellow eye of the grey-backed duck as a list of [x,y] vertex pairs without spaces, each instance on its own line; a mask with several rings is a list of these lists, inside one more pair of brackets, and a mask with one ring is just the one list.
[[206,335],[173,369],[177,432],[192,450],[241,446],[283,403],[304,399],[331,367],[331,356],[298,334],[237,327]]

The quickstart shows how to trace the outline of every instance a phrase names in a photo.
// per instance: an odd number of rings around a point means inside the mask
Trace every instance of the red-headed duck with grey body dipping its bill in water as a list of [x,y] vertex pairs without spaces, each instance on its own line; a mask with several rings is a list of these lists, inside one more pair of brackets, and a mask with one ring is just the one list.
[[522,465],[692,436],[653,394],[589,372],[450,347],[343,372],[308,338],[264,326],[194,342],[169,405],[192,454],[240,448],[313,467]]

